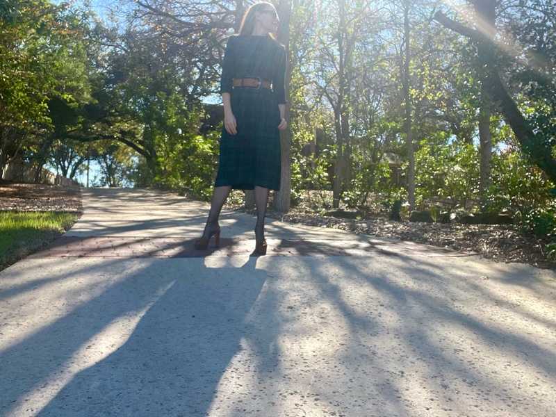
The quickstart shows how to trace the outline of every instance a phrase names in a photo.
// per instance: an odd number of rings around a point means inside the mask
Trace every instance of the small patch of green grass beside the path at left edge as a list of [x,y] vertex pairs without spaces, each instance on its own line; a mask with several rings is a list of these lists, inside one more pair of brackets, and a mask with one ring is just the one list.
[[0,270],[39,250],[78,218],[55,211],[0,211]]

